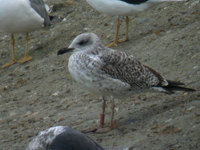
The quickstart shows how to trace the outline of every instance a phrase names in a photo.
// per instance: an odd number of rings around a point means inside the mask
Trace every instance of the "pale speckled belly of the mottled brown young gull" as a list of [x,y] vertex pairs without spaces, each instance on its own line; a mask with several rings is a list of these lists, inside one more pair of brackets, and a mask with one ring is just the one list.
[[101,96],[124,96],[130,91],[130,86],[128,84],[89,70],[80,64],[69,62],[69,72],[77,82],[81,83],[93,93]]

